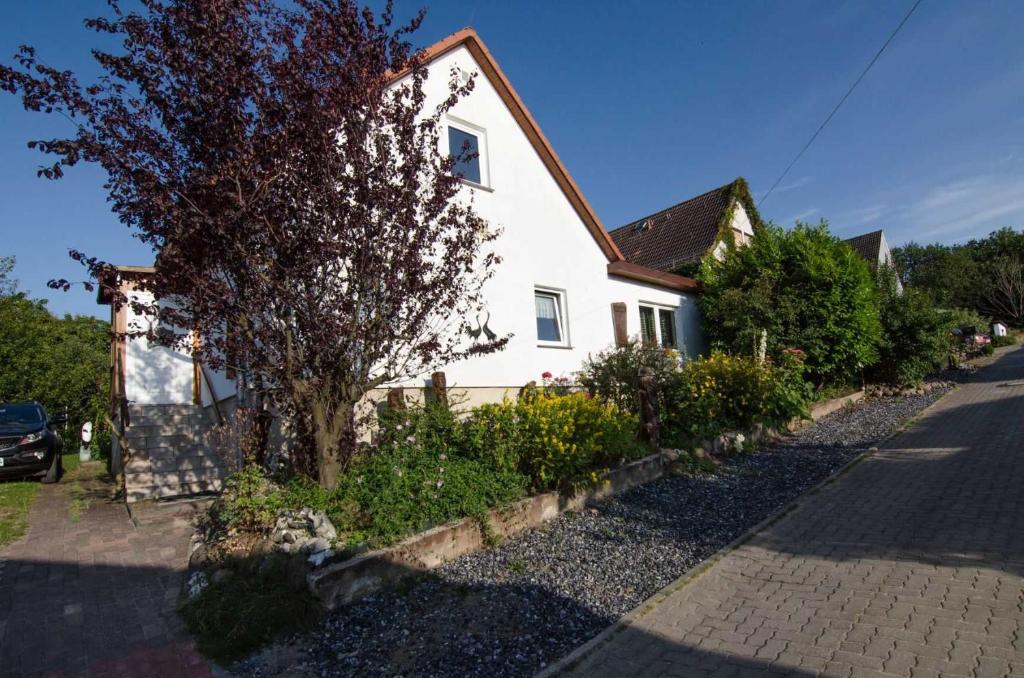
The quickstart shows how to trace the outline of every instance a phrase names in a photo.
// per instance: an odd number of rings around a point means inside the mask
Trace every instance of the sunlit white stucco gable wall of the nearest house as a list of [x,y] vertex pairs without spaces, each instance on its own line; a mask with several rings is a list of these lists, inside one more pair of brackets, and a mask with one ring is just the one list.
[[[453,67],[480,71],[464,47],[439,57],[431,63],[426,83],[428,105],[446,94]],[[482,73],[452,116],[482,128],[486,135],[481,163],[488,170],[488,189],[467,186],[464,192],[472,193],[480,216],[503,229],[496,244],[503,261],[484,297],[489,328],[513,337],[503,351],[446,367],[450,384],[518,387],[539,380],[545,371],[570,375],[589,353],[612,344],[612,302],[627,304],[631,335],[640,331],[640,302],[679,307],[680,343],[691,353],[702,348],[691,296],[607,274],[607,258]],[[444,135],[442,143],[446,153]],[[539,345],[536,287],[564,291],[568,348]]]

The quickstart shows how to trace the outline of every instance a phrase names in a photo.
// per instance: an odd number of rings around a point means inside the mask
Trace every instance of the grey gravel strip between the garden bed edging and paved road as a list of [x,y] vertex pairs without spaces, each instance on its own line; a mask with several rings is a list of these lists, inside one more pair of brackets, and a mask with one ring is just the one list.
[[242,675],[528,676],[890,435],[948,387],[868,398],[715,475],[668,476],[331,613]]

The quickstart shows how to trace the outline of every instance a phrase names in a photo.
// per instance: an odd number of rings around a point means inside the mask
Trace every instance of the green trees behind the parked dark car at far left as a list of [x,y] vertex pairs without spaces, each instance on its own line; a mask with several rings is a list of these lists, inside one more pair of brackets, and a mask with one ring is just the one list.
[[70,447],[77,448],[86,421],[101,432],[110,394],[110,325],[87,315],[58,319],[44,300],[14,293],[0,296],[0,401],[38,400],[50,416],[67,407]]

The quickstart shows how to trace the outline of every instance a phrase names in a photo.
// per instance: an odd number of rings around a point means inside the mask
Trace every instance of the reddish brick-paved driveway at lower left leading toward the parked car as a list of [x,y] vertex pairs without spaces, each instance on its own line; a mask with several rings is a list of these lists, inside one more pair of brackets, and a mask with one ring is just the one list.
[[40,488],[0,550],[0,675],[209,676],[175,613],[190,534],[105,499],[74,522],[67,485]]

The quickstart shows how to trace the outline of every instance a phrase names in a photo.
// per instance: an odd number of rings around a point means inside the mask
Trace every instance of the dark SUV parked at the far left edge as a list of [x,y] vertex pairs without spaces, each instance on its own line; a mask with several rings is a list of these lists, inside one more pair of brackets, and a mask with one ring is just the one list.
[[50,427],[65,421],[48,418],[38,402],[0,404],[0,478],[41,475],[43,482],[59,480],[63,442]]

